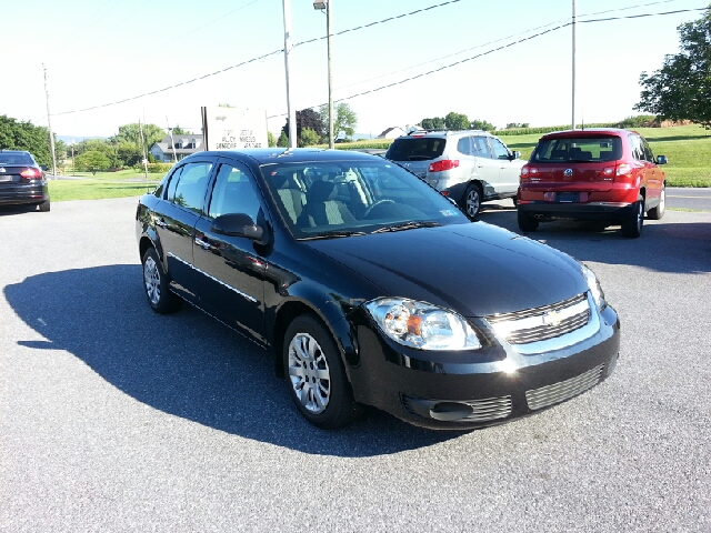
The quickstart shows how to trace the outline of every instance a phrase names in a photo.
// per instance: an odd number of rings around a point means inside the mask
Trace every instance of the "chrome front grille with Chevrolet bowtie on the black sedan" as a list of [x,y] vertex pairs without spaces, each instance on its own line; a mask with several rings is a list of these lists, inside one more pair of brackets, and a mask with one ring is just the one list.
[[582,293],[551,305],[494,314],[487,320],[510,344],[528,344],[582,328],[590,321],[590,305]]

